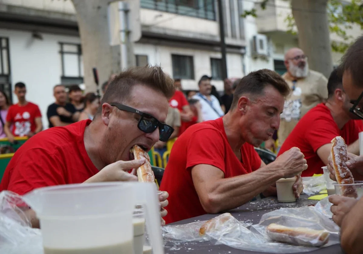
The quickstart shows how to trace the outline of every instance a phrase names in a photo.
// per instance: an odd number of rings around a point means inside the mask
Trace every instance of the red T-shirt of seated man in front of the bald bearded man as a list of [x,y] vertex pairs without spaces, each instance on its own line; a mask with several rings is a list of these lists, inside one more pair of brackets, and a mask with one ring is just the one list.
[[347,145],[358,139],[359,132],[363,131],[362,120],[349,120],[341,130],[334,122],[329,108],[321,103],[309,110],[297,123],[294,130],[282,144],[278,156],[292,147],[298,147],[305,155],[308,168],[301,176],[322,174],[321,167],[325,166],[317,154],[317,150],[329,144],[336,136],[342,136]]

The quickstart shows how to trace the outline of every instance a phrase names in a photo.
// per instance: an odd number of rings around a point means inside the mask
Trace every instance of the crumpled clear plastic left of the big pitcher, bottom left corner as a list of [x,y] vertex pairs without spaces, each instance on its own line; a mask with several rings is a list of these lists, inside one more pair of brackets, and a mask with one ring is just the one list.
[[0,192],[0,253],[43,254],[40,229],[31,228],[21,196]]

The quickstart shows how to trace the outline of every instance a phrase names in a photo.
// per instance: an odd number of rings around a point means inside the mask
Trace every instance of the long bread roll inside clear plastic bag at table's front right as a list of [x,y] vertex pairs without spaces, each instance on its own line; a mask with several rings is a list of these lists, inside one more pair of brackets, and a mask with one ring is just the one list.
[[325,230],[290,228],[275,223],[267,227],[266,233],[273,241],[301,246],[320,247],[329,241],[329,232]]

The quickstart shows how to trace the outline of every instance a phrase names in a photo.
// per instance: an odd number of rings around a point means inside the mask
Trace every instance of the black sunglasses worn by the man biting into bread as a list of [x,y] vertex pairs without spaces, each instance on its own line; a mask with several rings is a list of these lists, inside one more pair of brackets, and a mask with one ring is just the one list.
[[143,131],[145,133],[151,133],[159,127],[159,140],[162,142],[167,142],[174,131],[173,127],[165,123],[161,123],[154,116],[141,112],[135,108],[123,105],[121,103],[110,103],[110,105],[117,107],[119,110],[140,115],[141,118],[137,124],[137,127],[140,131]]

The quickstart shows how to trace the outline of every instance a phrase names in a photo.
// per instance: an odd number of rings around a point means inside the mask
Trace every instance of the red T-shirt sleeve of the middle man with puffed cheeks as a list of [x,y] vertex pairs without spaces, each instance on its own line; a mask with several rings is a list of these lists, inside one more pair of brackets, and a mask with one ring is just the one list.
[[223,137],[217,130],[196,131],[187,146],[187,169],[198,164],[208,164],[225,173],[224,153]]

